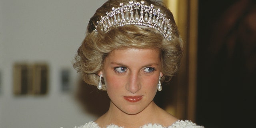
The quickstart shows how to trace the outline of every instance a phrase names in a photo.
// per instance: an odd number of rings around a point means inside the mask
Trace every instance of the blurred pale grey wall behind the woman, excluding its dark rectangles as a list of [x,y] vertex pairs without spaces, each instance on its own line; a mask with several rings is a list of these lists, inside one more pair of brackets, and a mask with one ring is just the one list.
[[[74,100],[72,60],[90,17],[106,0],[0,0],[0,128],[73,128],[96,117]],[[13,94],[15,63],[48,64],[48,92]],[[61,72],[70,73],[62,90]]]

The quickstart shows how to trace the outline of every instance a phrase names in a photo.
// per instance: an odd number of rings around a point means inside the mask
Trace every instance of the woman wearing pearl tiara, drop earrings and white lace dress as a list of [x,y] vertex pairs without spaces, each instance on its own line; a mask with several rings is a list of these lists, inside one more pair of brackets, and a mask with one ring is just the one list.
[[152,0],[108,0],[90,19],[74,67],[106,90],[106,114],[79,128],[203,128],[178,120],[153,98],[179,68],[182,40],[170,10]]

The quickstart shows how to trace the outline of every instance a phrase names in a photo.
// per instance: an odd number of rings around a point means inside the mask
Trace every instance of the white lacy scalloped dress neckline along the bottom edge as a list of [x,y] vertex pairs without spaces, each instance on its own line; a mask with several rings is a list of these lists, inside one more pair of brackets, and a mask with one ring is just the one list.
[[[96,122],[90,121],[82,126],[75,126],[74,128],[101,128]],[[124,128],[116,126],[114,124],[107,126],[106,128]],[[146,124],[140,128],[204,128],[203,126],[197,126],[195,123],[189,120],[178,120],[174,122],[171,126],[163,127],[160,124]]]

